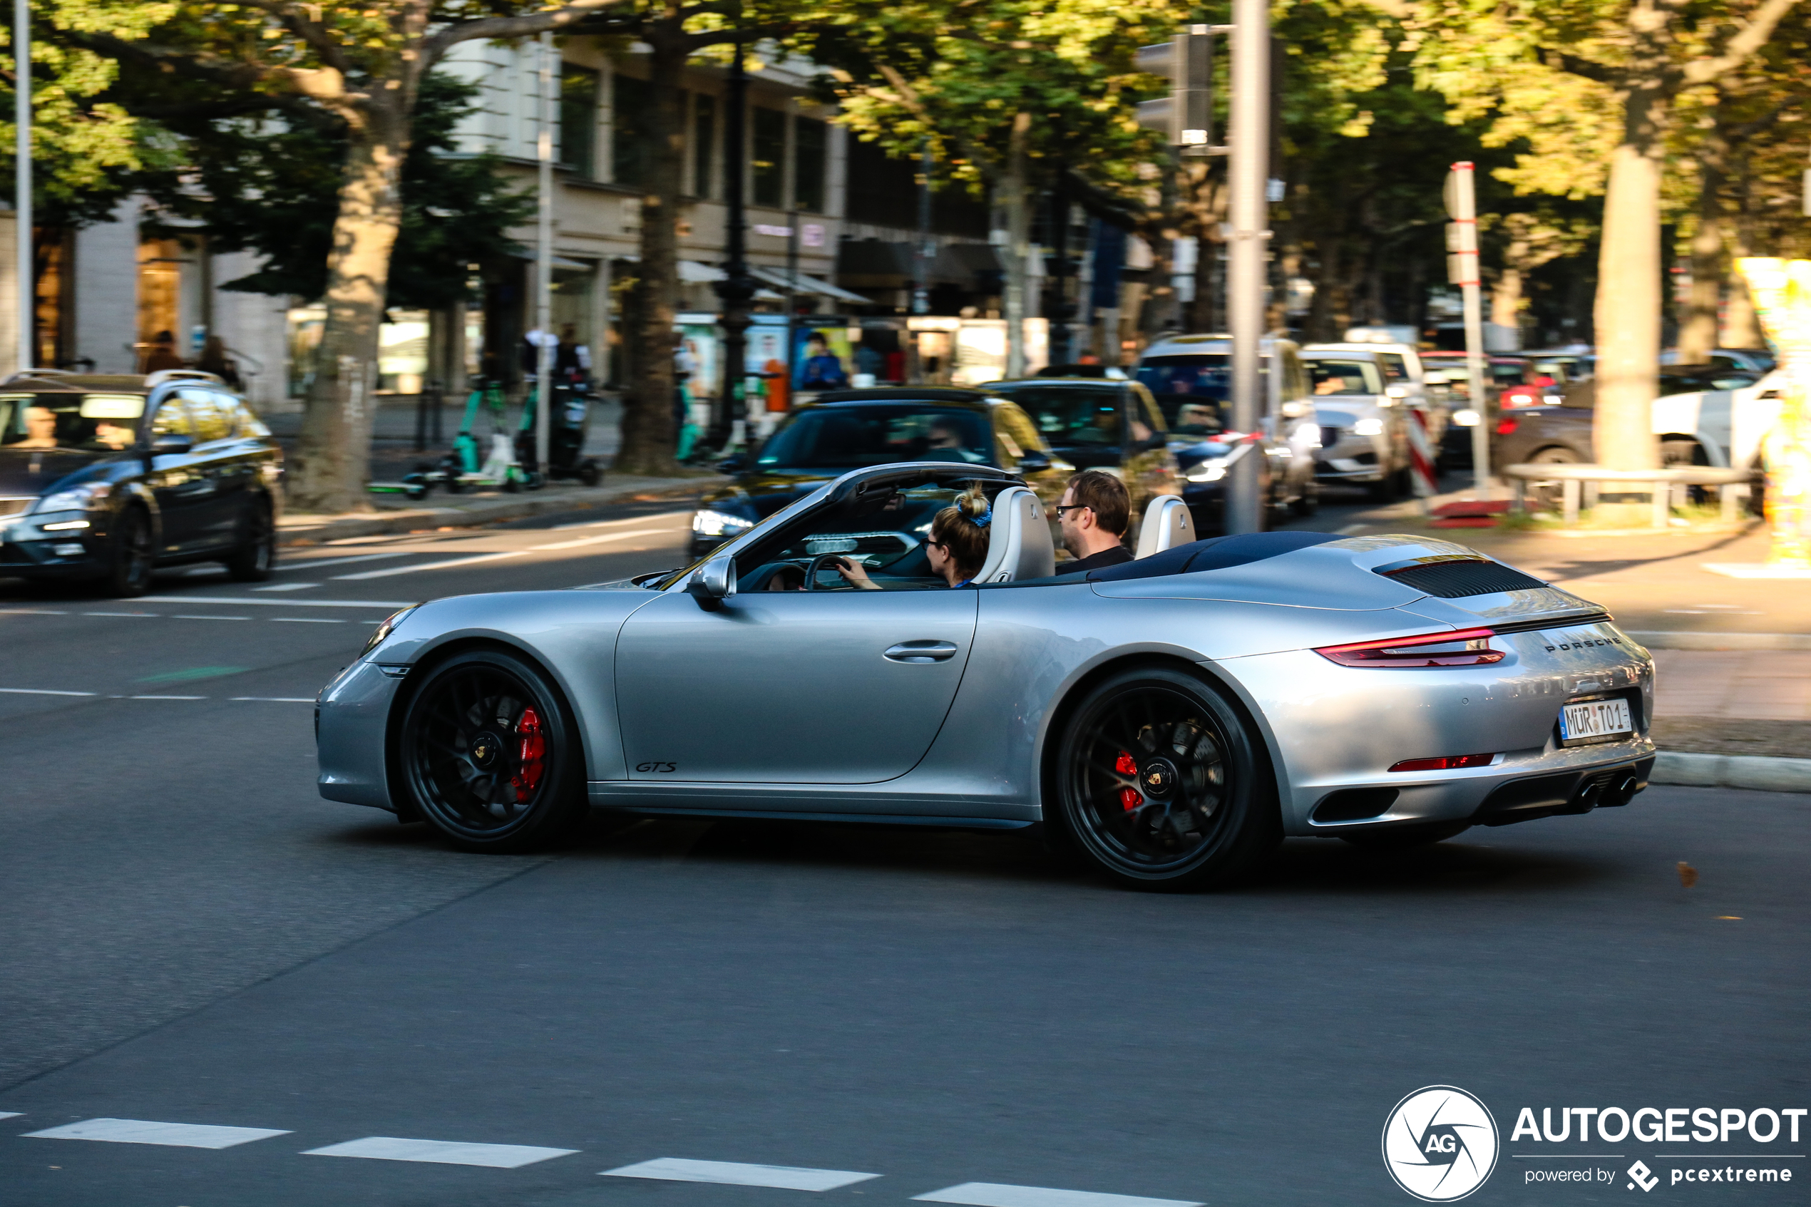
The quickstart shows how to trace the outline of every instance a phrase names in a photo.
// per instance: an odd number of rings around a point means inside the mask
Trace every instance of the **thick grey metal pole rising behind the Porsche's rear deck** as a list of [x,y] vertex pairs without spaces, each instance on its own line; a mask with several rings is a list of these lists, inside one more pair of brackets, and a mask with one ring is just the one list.
[[[1255,432],[1262,422],[1259,356],[1264,337],[1264,253],[1270,239],[1270,5],[1233,0],[1233,112],[1231,112],[1231,266],[1226,311],[1233,329],[1231,427]],[[1262,525],[1259,458],[1242,456],[1226,476],[1226,532],[1257,532]]]

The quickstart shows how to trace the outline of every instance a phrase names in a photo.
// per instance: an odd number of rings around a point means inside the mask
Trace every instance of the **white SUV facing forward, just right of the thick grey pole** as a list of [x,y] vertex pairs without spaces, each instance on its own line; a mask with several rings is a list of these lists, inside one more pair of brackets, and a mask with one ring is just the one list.
[[1315,478],[1365,487],[1376,501],[1409,490],[1407,400],[1393,398],[1373,351],[1302,351],[1320,449]]

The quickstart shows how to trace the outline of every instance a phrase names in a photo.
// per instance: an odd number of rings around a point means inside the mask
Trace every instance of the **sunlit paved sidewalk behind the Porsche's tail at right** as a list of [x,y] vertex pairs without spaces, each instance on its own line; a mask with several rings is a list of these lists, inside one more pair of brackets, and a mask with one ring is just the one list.
[[1760,521],[1735,532],[1559,536],[1433,528],[1414,503],[1396,503],[1360,514],[1342,532],[1469,545],[1608,608],[1655,655],[1653,737],[1662,749],[1655,782],[1811,793],[1811,590],[1702,568],[1764,561]]

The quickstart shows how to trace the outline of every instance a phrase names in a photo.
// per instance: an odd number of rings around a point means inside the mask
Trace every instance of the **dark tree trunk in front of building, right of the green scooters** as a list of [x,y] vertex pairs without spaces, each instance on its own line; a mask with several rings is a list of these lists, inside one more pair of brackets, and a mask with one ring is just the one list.
[[683,105],[686,47],[677,16],[679,5],[666,4],[666,16],[652,22],[643,40],[654,47],[648,56],[648,174],[641,195],[641,271],[636,306],[636,353],[630,360],[628,394],[623,398],[623,445],[616,470],[668,478],[679,472],[674,460],[677,431],[674,409],[674,344],[679,295],[679,188],[685,179]]

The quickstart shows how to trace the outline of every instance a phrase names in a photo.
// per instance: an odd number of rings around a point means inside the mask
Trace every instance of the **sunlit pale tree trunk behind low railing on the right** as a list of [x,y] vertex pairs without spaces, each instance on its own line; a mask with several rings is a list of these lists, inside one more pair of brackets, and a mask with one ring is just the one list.
[[1661,128],[1666,96],[1630,83],[1623,141],[1610,156],[1597,259],[1597,461],[1655,469],[1653,398],[1661,362]]

